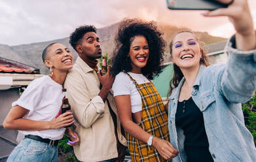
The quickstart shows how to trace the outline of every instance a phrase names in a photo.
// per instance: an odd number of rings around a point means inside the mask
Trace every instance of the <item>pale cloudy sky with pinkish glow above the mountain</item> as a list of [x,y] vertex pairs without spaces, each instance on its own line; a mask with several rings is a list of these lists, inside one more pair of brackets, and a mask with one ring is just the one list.
[[[248,2],[256,26],[256,1]],[[155,20],[226,38],[234,33],[227,18],[205,18],[202,12],[169,10],[166,0],[1,0],[0,44],[62,39],[79,25],[105,27],[123,18]]]

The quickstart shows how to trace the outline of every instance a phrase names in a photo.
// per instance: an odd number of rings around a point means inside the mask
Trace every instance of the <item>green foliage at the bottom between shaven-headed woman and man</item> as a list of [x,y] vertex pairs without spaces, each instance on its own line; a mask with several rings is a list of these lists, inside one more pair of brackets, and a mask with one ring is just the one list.
[[69,137],[67,137],[67,135],[64,135],[64,137],[61,140],[59,140],[58,156],[62,157],[65,160],[65,162],[78,161],[77,157],[75,157],[73,147],[69,146],[67,144],[67,141],[69,141]]

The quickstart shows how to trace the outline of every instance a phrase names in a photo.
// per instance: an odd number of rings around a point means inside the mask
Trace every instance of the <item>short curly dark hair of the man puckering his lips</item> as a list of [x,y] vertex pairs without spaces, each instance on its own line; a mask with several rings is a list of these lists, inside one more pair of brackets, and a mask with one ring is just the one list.
[[75,31],[70,34],[69,44],[71,44],[75,51],[77,51],[75,47],[77,46],[77,44],[79,44],[82,37],[84,37],[84,34],[91,31],[96,33],[97,29],[94,25],[83,25],[77,27],[77,29],[75,29]]

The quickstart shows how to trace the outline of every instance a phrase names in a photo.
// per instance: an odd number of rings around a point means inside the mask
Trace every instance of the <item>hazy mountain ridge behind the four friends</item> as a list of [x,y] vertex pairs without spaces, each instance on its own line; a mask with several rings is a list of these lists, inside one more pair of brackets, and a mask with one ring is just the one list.
[[[169,43],[174,34],[181,30],[187,29],[185,27],[176,27],[168,24],[164,24],[162,22],[153,22],[158,26],[158,29],[164,33],[163,38],[166,40],[166,55],[164,57],[164,61],[170,61],[169,56]],[[111,57],[113,56],[112,52],[115,48],[115,35],[117,33],[117,29],[119,27],[119,23],[109,25],[107,27],[99,28],[97,33],[100,37],[100,44],[103,50],[103,54],[108,53]],[[209,35],[207,32],[195,32],[198,35],[199,39],[205,42],[206,44],[210,44],[213,42],[219,42],[221,40],[225,40],[222,37],[213,37]],[[5,44],[0,44],[0,57],[5,57],[7,59],[12,59],[14,61],[18,61],[20,63],[25,63],[27,65],[31,65],[32,67],[36,67],[40,69],[42,74],[48,74],[48,68],[45,67],[42,61],[42,52],[43,49],[52,42],[60,42],[67,46],[73,54],[74,59],[77,58],[77,52],[73,50],[71,45],[69,44],[69,37],[64,39],[56,39],[50,40],[47,42],[36,42],[31,44],[21,44],[18,46],[8,46]]]

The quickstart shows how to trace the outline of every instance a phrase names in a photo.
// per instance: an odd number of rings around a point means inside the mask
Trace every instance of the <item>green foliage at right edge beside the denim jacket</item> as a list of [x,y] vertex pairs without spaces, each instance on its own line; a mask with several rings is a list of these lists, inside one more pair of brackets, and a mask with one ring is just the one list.
[[256,91],[253,98],[242,105],[247,129],[251,132],[256,146]]

